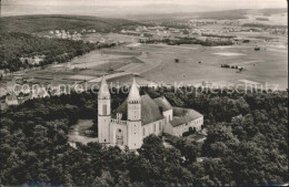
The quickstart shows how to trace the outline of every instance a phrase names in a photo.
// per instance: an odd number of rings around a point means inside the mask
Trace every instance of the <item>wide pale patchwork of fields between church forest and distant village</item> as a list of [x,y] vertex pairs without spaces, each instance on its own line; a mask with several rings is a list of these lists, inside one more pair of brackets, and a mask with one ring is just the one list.
[[[259,45],[260,51],[255,51]],[[282,48],[281,48],[282,46]],[[178,59],[178,62],[176,62]],[[134,44],[92,51],[69,63],[24,73],[39,82],[97,83],[103,74],[122,83],[133,73],[146,80],[173,85],[209,82],[237,84],[243,80],[258,84],[288,86],[288,52],[285,43],[256,41],[232,46]],[[243,71],[221,64],[242,66]],[[39,77],[39,80],[38,80]]]

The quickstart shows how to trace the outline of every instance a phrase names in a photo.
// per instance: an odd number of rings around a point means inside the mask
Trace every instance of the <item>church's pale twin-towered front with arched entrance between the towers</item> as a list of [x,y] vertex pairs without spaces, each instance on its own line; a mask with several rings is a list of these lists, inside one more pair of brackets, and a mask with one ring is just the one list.
[[140,148],[142,144],[141,97],[133,77],[127,100],[127,120],[122,114],[111,117],[110,92],[104,76],[98,94],[98,138],[99,143],[127,145],[129,149]]

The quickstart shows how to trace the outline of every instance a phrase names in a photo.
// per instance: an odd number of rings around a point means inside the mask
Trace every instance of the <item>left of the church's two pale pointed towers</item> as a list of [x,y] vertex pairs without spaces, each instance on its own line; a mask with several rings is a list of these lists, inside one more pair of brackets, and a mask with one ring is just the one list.
[[110,131],[110,93],[104,75],[98,93],[98,139],[99,143],[109,143]]

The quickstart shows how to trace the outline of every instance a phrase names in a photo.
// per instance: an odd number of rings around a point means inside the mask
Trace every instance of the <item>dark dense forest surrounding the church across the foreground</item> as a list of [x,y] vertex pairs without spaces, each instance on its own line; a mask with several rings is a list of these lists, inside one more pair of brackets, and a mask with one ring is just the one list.
[[[178,137],[167,148],[161,137],[151,135],[138,154],[98,143],[73,148],[68,144],[69,127],[80,118],[97,118],[97,94],[37,98],[1,114],[2,185],[267,186],[288,181],[287,92],[217,90],[196,95],[142,87],[144,92],[202,113],[208,129],[205,143]],[[112,110],[126,97],[112,94]],[[206,159],[197,162],[198,157]]]

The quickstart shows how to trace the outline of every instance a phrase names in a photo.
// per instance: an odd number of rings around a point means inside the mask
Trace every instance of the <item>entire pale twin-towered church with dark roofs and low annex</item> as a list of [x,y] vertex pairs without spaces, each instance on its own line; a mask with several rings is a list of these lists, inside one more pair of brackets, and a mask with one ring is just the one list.
[[102,77],[98,94],[99,143],[137,149],[150,134],[182,136],[185,132],[200,131],[202,124],[203,116],[191,108],[172,107],[165,96],[140,95],[134,77],[128,98],[111,112],[109,87]]

